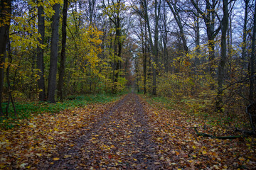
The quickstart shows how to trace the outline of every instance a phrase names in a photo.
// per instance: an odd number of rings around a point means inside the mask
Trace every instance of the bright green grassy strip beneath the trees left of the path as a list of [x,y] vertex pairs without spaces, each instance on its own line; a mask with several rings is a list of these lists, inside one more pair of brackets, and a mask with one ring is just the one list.
[[[107,103],[115,101],[120,98],[122,94],[89,94],[86,96],[68,96],[63,102],[48,103],[48,102],[16,102],[17,118],[14,118],[14,108],[9,106],[9,118],[0,117],[0,128],[10,129],[18,125],[22,119],[31,118],[33,115],[40,113],[58,113],[66,109],[84,107],[90,103]],[[7,103],[2,103],[3,108],[7,106]],[[6,113],[5,113],[6,114]]]

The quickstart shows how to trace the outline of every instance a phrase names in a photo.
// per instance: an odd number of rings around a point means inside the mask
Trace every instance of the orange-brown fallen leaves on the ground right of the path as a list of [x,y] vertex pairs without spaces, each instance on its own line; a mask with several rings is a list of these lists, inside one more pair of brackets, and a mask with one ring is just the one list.
[[151,106],[146,108],[147,112],[153,113],[151,123],[159,126],[156,129],[159,137],[155,140],[161,144],[161,152],[172,155],[172,164],[177,165],[176,168],[255,169],[255,137],[219,140],[198,136],[193,127],[215,136],[240,134],[220,125],[206,125],[198,116],[174,109],[170,111],[163,103],[153,102]]

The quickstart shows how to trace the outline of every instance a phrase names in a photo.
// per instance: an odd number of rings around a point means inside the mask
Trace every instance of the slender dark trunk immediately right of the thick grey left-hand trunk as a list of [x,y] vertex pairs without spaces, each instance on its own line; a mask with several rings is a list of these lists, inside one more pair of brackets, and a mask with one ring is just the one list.
[[62,42],[60,52],[60,67],[59,67],[59,79],[58,79],[58,97],[60,101],[63,101],[63,84],[65,75],[65,47],[67,41],[67,12],[68,12],[68,0],[64,0],[63,4],[63,23],[62,23]]

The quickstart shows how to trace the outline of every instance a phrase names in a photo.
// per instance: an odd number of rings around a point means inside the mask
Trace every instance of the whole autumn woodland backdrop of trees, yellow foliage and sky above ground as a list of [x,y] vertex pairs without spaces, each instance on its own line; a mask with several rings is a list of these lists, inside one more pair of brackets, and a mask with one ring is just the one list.
[[1,0],[0,115],[15,113],[16,101],[136,85],[254,128],[255,8],[254,0]]

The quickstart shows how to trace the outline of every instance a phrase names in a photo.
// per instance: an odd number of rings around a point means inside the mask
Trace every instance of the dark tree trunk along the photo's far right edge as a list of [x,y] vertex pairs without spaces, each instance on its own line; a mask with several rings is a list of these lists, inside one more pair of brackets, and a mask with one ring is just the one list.
[[253,16],[253,32],[252,32],[252,55],[250,58],[250,91],[249,91],[249,100],[251,103],[254,101],[255,93],[255,36],[256,36],[256,5]]

